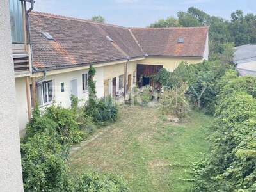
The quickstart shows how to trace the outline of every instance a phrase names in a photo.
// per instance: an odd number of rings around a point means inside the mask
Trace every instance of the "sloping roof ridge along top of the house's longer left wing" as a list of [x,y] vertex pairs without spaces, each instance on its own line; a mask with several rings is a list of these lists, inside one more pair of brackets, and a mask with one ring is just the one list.
[[88,20],[88,19],[81,19],[81,18],[77,18],[77,17],[68,17],[68,16],[63,16],[63,15],[56,15],[56,14],[52,14],[52,13],[44,13],[44,12],[35,12],[35,11],[33,11],[33,12],[30,12],[29,15],[40,15],[40,16],[51,17],[51,18],[56,18],[56,19],[76,20],[76,21],[80,21],[80,22],[87,22],[87,23],[98,24],[98,25],[102,25],[102,26],[111,26],[111,27],[115,27],[115,28],[129,29],[129,28],[126,28],[124,26],[118,26],[118,25],[115,25],[115,24],[95,22],[95,21]]

